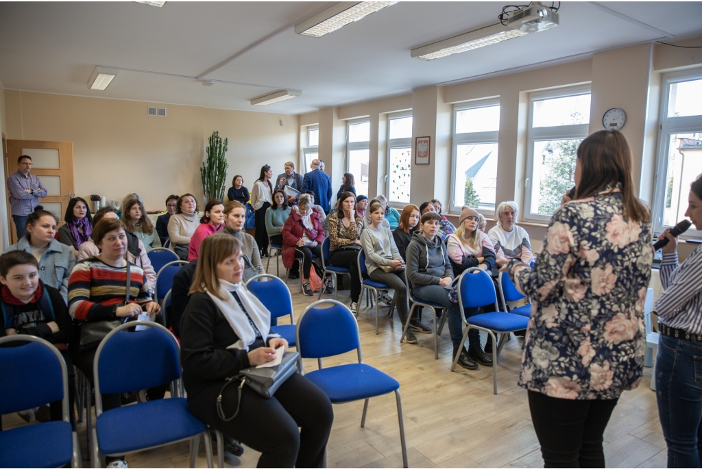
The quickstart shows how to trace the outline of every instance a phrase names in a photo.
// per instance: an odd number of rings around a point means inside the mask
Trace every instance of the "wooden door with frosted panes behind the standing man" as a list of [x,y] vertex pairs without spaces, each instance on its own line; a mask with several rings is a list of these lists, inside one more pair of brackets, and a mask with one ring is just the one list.
[[[74,195],[73,143],[8,140],[5,158],[5,171],[8,176],[17,172],[17,159],[22,155],[32,157],[32,174],[38,176],[41,184],[46,187],[46,197],[40,198],[39,203],[56,215],[59,225],[63,224],[68,201]],[[17,243],[17,230],[12,220],[10,226],[10,242],[14,244]]]

